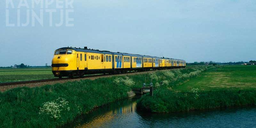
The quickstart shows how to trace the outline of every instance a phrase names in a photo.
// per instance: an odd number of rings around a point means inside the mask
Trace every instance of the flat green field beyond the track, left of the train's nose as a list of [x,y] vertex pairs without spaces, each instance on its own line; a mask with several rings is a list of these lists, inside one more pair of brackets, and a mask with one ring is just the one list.
[[55,78],[52,68],[2,68],[0,83]]

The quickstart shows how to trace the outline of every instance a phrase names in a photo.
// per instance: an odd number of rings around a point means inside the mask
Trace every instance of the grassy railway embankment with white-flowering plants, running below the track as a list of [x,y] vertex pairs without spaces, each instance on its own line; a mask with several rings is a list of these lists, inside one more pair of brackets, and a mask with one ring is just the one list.
[[127,92],[141,87],[145,81],[156,85],[158,97],[160,91],[167,91],[161,88],[171,89],[206,69],[201,66],[14,88],[0,92],[0,127],[59,127],[99,106],[128,97]]

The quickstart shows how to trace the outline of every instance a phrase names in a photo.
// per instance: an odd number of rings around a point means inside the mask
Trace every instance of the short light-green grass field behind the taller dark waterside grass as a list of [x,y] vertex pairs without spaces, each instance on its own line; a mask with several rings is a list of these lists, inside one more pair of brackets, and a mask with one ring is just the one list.
[[173,90],[190,91],[192,88],[200,90],[256,88],[256,66],[238,65],[211,68]]

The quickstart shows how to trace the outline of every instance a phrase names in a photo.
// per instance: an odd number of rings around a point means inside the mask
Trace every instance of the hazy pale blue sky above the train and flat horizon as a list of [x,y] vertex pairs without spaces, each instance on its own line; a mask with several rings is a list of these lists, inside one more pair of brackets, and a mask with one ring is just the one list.
[[187,62],[256,60],[255,0],[32,1],[40,0],[0,3],[0,66],[51,65],[54,50],[67,46]]

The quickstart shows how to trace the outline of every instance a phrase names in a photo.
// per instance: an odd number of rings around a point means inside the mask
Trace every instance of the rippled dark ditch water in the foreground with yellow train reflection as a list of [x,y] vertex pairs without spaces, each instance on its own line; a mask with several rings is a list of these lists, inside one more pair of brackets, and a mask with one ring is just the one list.
[[136,111],[136,98],[111,103],[65,127],[255,127],[256,108],[233,108],[188,113],[149,114]]

